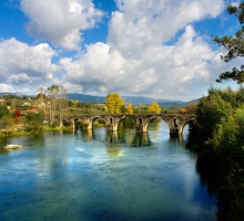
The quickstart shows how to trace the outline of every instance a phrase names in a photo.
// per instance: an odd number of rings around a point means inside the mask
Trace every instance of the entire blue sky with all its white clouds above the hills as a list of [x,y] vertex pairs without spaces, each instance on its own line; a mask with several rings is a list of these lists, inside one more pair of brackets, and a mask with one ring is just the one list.
[[233,34],[224,0],[1,0],[0,92],[191,101],[242,60],[221,61],[212,35]]

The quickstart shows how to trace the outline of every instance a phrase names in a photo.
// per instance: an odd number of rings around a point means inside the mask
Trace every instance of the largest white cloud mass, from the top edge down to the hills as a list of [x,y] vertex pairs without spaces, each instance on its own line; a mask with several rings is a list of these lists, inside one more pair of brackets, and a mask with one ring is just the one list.
[[[83,92],[98,94],[116,91],[184,98],[194,96],[194,87],[209,85],[217,77],[220,71],[213,71],[220,65],[220,54],[191,23],[218,15],[222,0],[116,3],[119,10],[112,14],[108,43],[87,46],[87,53],[78,60],[61,60],[70,88],[80,85]],[[169,45],[179,31],[182,34]]]

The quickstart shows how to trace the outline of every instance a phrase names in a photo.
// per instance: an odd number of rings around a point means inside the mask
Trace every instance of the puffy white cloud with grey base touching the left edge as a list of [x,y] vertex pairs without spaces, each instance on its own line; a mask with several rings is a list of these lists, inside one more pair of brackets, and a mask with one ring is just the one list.
[[45,43],[29,46],[16,39],[1,41],[0,84],[8,83],[24,88],[53,81],[59,71],[59,66],[51,63],[54,54]]

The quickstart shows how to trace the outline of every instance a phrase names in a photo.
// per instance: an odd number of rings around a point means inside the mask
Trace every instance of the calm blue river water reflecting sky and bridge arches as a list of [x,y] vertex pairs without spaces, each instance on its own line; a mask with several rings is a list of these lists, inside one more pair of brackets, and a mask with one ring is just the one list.
[[[0,220],[216,220],[216,196],[185,148],[189,130],[48,131],[0,139]],[[22,145],[6,150],[7,144]]]

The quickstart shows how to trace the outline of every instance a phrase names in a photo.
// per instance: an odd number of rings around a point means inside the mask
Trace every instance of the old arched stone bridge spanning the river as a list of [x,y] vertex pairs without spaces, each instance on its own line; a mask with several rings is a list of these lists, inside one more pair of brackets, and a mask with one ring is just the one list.
[[196,115],[194,114],[142,114],[142,115],[129,115],[129,114],[105,114],[105,115],[95,115],[95,114],[85,114],[85,115],[73,115],[64,116],[65,122],[72,122],[73,128],[78,128],[78,122],[82,122],[84,129],[92,129],[93,123],[100,118],[105,123],[106,129],[110,131],[116,131],[119,125],[122,120],[129,119],[134,125],[136,131],[146,133],[149,125],[154,119],[164,120],[169,128],[170,134],[182,134],[185,124],[189,122],[195,122]]

